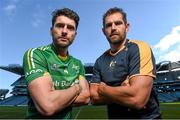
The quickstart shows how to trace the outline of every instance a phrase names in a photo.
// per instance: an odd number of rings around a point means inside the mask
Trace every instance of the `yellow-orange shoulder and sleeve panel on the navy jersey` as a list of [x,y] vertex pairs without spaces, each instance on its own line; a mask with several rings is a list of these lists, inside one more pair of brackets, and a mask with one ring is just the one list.
[[142,41],[130,40],[130,42],[136,43],[139,47],[140,54],[140,74],[141,75],[153,75],[153,61],[152,53],[148,44]]

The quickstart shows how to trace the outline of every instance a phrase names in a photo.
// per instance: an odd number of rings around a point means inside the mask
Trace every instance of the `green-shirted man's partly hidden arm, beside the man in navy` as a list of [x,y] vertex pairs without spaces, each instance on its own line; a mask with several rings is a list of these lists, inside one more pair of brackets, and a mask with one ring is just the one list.
[[86,105],[90,101],[89,84],[86,79],[80,79],[81,92],[73,102],[73,105]]

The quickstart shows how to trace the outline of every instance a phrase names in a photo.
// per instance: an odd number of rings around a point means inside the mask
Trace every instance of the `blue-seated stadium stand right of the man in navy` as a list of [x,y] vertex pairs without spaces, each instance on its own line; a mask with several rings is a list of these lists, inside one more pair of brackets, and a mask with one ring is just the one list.
[[156,65],[154,86],[162,102],[180,101],[180,61],[164,61]]

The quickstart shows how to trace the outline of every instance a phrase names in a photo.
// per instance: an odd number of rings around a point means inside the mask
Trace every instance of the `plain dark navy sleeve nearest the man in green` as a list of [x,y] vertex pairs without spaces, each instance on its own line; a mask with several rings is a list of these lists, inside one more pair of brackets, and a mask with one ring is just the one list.
[[96,60],[94,67],[93,67],[93,76],[91,83],[100,83],[101,82],[101,75],[99,70],[99,59]]

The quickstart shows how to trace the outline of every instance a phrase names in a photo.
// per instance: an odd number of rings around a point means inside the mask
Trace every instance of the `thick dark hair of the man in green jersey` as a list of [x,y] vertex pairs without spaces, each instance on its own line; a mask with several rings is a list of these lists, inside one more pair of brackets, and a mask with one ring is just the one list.
[[76,12],[74,12],[73,10],[71,10],[69,8],[56,9],[55,11],[52,12],[52,16],[53,16],[52,17],[52,26],[54,25],[56,18],[61,15],[74,20],[76,23],[76,29],[77,29],[80,18]]

